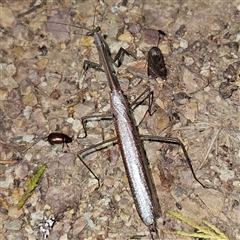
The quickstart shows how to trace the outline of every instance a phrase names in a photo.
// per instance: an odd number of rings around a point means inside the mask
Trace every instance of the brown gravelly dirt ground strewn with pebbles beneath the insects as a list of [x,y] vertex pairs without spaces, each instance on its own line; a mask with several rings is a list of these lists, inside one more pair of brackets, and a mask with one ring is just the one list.
[[[160,238],[193,239],[193,232],[167,214],[169,209],[201,224],[206,219],[240,239],[240,1],[1,1],[0,238],[151,239],[135,209],[117,146],[77,153],[115,136],[111,120],[81,118],[110,112],[104,72],[84,71],[84,60],[99,62],[93,25],[113,56],[126,56],[116,69],[130,102],[146,87],[154,92],[134,110],[139,132],[179,138],[199,180],[175,145],[144,142],[161,216]],[[81,26],[82,28],[75,27]],[[158,30],[164,34],[159,39]],[[148,78],[147,52],[161,49],[167,78]],[[145,117],[144,117],[145,116]],[[143,118],[143,119],[142,119]],[[50,145],[52,132],[73,138]],[[24,206],[27,176],[47,168]],[[176,206],[176,203],[180,204]],[[51,228],[49,219],[55,218]],[[39,225],[43,224],[43,225]],[[45,229],[45,230],[44,230]]]

